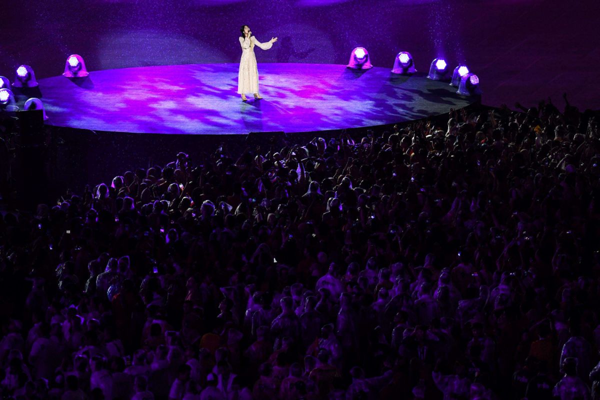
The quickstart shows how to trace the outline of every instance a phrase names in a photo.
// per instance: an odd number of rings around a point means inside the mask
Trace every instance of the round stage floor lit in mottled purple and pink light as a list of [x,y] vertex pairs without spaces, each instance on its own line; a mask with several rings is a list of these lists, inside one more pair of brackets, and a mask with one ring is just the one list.
[[238,64],[194,64],[91,72],[40,80],[47,125],[167,134],[286,133],[371,127],[461,109],[479,100],[424,74],[388,68],[259,64],[263,100],[242,103]]

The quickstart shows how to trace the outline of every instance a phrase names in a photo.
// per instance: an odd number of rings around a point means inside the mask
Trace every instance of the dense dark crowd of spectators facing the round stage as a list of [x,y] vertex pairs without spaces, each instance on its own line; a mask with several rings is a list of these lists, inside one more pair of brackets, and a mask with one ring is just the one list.
[[517,108],[2,213],[4,398],[600,399],[600,116]]

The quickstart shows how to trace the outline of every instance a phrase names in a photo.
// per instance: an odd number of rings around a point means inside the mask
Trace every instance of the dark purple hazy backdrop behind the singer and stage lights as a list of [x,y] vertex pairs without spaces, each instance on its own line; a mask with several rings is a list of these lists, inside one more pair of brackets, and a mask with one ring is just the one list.
[[533,106],[563,92],[600,109],[598,0],[25,0],[3,5],[0,75],[31,65],[62,73],[71,53],[90,71],[147,65],[236,62],[242,23],[260,41],[260,62],[346,64],[364,46],[376,67],[400,50],[426,72],[445,57],[478,74],[483,102]]

